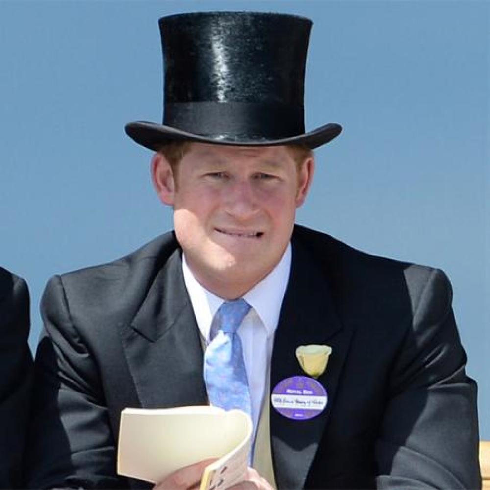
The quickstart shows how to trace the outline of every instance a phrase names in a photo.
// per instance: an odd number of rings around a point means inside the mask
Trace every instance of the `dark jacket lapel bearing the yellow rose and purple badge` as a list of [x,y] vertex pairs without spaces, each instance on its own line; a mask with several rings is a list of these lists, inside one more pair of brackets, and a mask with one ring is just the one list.
[[330,417],[350,338],[351,330],[337,317],[319,264],[293,241],[290,279],[272,352],[271,390],[283,379],[303,374],[295,357],[299,345],[328,344],[333,350],[325,372],[318,379],[328,396],[327,406],[319,416],[294,421],[270,408],[270,436],[278,488],[299,489],[305,484]]

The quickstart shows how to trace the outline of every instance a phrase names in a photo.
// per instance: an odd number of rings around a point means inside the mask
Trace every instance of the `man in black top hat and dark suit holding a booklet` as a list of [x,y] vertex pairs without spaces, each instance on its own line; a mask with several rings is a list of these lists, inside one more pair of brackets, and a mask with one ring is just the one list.
[[[156,152],[153,183],[175,230],[50,280],[28,486],[147,488],[116,474],[121,410],[236,393],[237,406],[248,397],[254,425],[242,488],[480,486],[476,389],[444,274],[294,225],[311,150],[341,131],[304,131],[310,27],[277,14],[160,20],[164,124],[126,131]],[[244,307],[237,334],[217,327],[231,304]],[[215,398],[210,372],[223,338],[241,365],[228,363],[236,377]],[[316,381],[295,356],[310,344],[332,349]],[[271,404],[293,378],[320,391],[316,417]],[[205,464],[157,488],[195,488]]]

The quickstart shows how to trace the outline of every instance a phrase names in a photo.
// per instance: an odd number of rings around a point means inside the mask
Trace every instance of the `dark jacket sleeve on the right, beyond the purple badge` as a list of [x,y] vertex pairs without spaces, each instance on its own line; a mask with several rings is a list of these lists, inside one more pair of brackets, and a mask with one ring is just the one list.
[[433,270],[414,290],[421,293],[412,297],[412,328],[392,369],[376,443],[376,486],[480,489],[476,385],[466,376],[451,287]]

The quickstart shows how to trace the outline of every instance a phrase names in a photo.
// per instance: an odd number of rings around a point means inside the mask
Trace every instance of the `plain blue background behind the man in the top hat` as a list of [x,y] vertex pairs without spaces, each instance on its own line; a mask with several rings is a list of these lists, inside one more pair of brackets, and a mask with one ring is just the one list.
[[490,439],[487,1],[0,0],[0,263],[29,283],[31,345],[49,276],[172,227],[123,126],[162,120],[157,19],[224,9],[313,19],[306,126],[344,132],[297,221],[448,274]]

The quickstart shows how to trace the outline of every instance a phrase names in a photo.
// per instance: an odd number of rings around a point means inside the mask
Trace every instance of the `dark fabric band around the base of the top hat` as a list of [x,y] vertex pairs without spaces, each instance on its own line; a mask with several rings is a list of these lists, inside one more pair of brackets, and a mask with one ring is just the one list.
[[268,103],[168,103],[163,123],[216,141],[272,141],[304,133],[303,107]]

